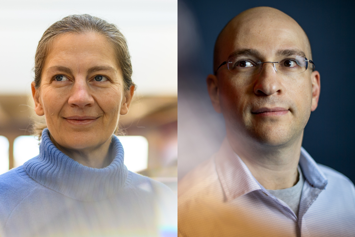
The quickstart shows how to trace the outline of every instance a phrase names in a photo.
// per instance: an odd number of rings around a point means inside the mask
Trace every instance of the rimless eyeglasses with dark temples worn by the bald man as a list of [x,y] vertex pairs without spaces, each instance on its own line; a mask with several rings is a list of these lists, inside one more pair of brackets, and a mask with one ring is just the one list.
[[[227,64],[228,70],[231,73],[249,76],[258,74],[263,68],[264,63],[272,63],[275,71],[285,75],[295,75],[306,71],[308,63],[312,64],[312,70],[315,68],[312,60],[307,60],[307,58],[300,55],[282,56],[277,58],[274,62],[262,62],[252,56],[241,55],[224,61],[219,65],[217,70],[224,64]],[[217,70],[214,72],[214,75],[217,74]]]

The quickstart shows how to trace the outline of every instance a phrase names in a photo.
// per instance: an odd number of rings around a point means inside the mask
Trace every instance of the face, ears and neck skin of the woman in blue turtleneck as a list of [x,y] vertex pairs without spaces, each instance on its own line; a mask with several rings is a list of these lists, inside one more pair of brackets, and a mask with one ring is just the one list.
[[45,59],[39,89],[31,85],[35,113],[45,116],[54,145],[88,167],[111,163],[111,135],[134,92],[124,91],[114,52],[97,33],[62,34]]

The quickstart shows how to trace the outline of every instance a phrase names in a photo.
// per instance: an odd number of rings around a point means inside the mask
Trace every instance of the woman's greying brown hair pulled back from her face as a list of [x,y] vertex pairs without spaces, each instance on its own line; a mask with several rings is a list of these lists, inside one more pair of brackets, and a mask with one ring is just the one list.
[[[129,91],[131,86],[135,86],[131,78],[132,64],[126,38],[114,24],[109,24],[107,21],[98,17],[83,14],[64,17],[62,20],[55,22],[44,32],[38,42],[34,57],[34,83],[36,89],[40,87],[43,65],[54,39],[61,34],[85,34],[89,32],[101,34],[112,43],[115,49],[117,63],[122,71],[125,91]],[[43,120],[34,121],[33,133],[35,136],[38,136],[38,139],[40,139],[42,130],[45,128],[47,128],[47,125]],[[117,127],[115,134],[118,133],[120,133],[120,131]]]

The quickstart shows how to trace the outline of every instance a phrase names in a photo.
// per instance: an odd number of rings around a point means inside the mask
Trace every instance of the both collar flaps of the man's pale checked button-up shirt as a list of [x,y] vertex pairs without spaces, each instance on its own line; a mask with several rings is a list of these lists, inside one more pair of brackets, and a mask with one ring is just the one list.
[[[255,190],[264,190],[266,192],[264,187],[253,177],[241,158],[233,151],[227,138],[223,140],[222,146],[215,156],[215,163],[226,201]],[[312,187],[319,189],[326,187],[326,177],[303,147],[301,147],[299,165],[305,179]]]

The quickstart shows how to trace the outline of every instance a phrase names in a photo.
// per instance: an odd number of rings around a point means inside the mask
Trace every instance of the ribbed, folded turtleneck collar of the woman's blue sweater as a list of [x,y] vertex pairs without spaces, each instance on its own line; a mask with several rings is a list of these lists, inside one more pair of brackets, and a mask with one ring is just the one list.
[[90,168],[58,150],[48,129],[44,129],[39,155],[24,163],[24,168],[35,181],[65,196],[81,201],[102,200],[118,192],[128,175],[123,147],[116,136],[112,136],[111,146],[115,156],[111,164],[102,169]]

